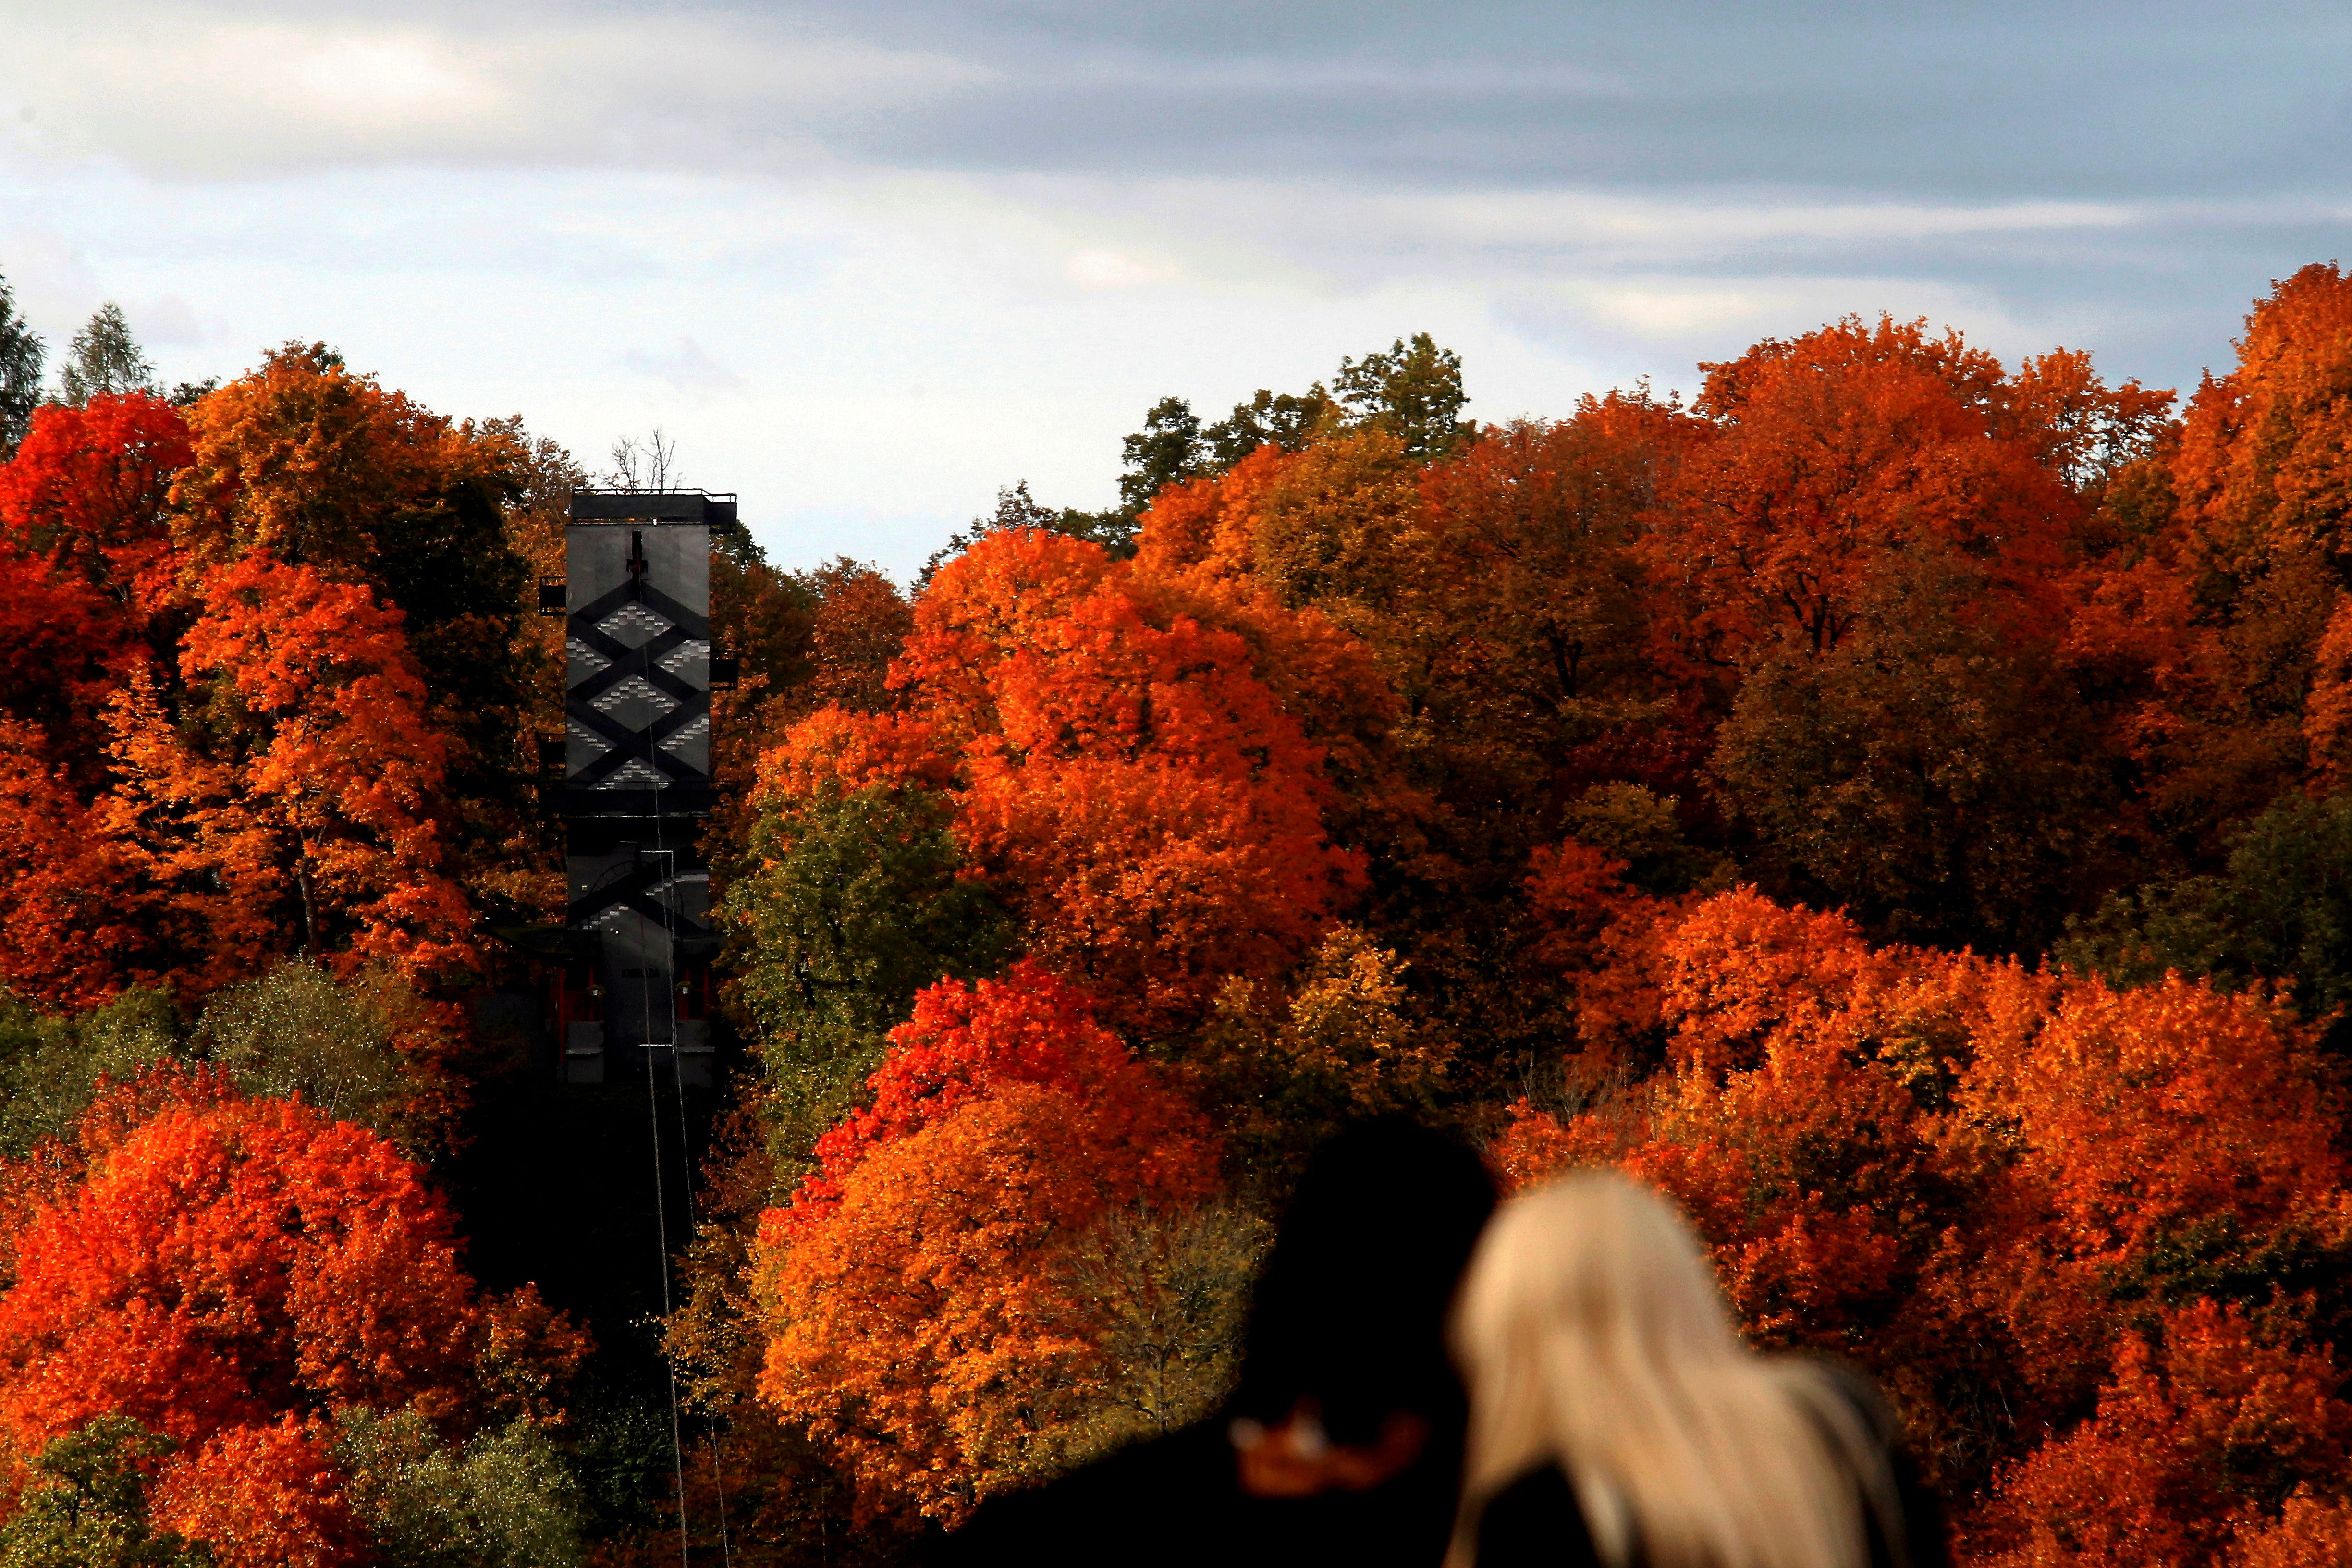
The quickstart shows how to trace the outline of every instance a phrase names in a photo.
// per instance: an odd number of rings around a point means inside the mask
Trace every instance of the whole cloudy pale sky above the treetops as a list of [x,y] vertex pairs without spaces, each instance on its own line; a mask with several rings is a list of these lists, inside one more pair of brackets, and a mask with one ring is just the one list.
[[1432,334],[1470,414],[1844,313],[2194,388],[2352,261],[2352,7],[0,0],[0,275],[167,381],[327,341],[908,576]]

